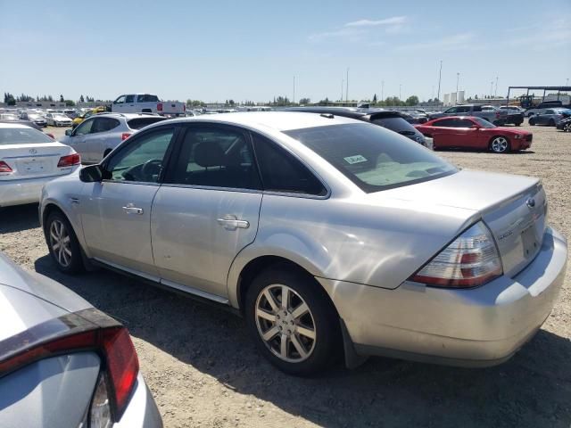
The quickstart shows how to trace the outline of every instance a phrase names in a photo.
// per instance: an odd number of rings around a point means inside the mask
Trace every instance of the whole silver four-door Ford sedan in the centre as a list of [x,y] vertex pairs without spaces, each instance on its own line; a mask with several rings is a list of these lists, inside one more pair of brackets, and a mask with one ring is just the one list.
[[97,264],[229,306],[291,374],[337,353],[506,360],[566,272],[546,214],[535,178],[459,170],[387,129],[300,112],[166,120],[40,202],[63,272]]

